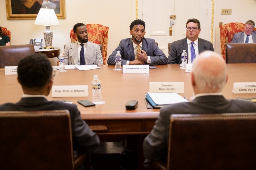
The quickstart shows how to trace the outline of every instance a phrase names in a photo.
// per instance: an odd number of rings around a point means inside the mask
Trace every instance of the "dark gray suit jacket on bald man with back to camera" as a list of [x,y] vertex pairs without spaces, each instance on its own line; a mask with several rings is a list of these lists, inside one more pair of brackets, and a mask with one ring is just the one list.
[[144,156],[150,160],[165,158],[171,114],[217,114],[256,112],[256,105],[246,100],[226,100],[223,96],[201,96],[192,102],[183,102],[161,108],[155,125],[143,141]]

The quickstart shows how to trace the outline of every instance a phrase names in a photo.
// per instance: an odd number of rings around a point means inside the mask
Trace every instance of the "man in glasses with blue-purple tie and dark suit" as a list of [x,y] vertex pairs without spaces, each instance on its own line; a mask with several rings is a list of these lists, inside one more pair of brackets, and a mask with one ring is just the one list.
[[186,23],[186,38],[174,41],[171,44],[168,64],[181,64],[181,54],[183,50],[186,50],[188,54],[187,63],[192,63],[193,59],[203,51],[213,51],[214,49],[211,42],[198,38],[200,32],[200,22],[194,18],[189,19]]

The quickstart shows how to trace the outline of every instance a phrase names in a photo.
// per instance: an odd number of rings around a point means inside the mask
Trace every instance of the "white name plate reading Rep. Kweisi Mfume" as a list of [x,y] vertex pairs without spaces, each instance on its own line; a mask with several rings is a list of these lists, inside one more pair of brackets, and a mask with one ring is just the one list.
[[52,86],[52,97],[88,97],[88,86]]

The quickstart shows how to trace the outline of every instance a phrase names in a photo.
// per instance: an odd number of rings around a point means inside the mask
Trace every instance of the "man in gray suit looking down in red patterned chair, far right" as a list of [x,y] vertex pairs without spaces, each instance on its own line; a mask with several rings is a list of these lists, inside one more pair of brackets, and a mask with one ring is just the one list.
[[235,33],[231,43],[256,43],[256,31],[253,31],[255,23],[246,21],[243,32]]

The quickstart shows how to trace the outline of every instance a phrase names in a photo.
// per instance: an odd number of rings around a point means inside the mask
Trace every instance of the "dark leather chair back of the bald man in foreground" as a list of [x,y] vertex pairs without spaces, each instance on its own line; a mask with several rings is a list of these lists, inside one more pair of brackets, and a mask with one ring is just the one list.
[[254,169],[256,113],[171,115],[167,169]]

